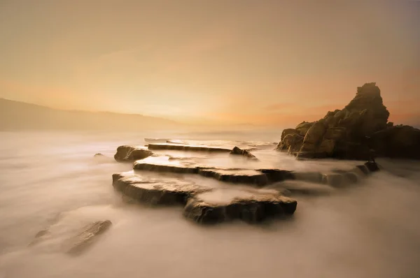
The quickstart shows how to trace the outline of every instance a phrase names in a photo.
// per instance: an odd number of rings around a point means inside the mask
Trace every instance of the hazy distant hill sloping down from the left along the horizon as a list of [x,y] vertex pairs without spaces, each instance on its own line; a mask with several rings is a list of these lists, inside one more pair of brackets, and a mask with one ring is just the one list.
[[0,98],[0,131],[141,131],[144,129],[172,129],[180,126],[183,124],[158,117],[113,112],[57,110]]

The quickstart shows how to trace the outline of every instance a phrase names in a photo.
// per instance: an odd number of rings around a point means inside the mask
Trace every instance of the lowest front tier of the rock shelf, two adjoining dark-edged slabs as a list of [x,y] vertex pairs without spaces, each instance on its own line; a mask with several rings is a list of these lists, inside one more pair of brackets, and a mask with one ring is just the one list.
[[193,182],[146,178],[134,171],[113,175],[113,186],[125,196],[149,205],[184,205],[183,215],[200,224],[241,219],[256,223],[291,215],[297,201],[277,191],[214,189]]

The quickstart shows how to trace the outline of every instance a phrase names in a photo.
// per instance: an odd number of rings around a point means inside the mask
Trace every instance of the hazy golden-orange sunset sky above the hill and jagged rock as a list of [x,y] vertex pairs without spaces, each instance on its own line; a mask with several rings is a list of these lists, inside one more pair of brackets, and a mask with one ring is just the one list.
[[390,120],[420,119],[420,1],[0,0],[15,101],[293,126],[365,82]]

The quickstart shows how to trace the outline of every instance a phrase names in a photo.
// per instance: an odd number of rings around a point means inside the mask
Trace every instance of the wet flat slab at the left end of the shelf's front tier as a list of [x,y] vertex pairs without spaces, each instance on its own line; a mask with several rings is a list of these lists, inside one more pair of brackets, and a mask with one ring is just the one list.
[[183,205],[197,193],[211,190],[193,182],[143,177],[134,171],[114,174],[113,186],[125,196],[150,205]]

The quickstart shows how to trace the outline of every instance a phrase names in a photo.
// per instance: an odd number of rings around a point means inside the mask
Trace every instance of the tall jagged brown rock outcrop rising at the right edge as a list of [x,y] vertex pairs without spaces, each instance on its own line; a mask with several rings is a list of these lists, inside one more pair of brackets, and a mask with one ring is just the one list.
[[[419,152],[409,152],[420,149],[418,130],[393,126],[388,117],[379,87],[366,83],[357,88],[356,96],[342,110],[329,111],[317,122],[302,122],[295,129],[283,130],[276,149],[300,158],[365,160],[370,149],[375,149],[379,156],[420,159]],[[381,138],[392,139],[384,144]]]

